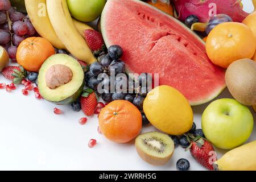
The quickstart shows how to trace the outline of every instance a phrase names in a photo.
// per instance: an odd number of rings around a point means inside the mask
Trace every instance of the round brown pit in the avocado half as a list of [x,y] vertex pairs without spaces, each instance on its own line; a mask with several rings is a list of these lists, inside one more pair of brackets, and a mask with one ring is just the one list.
[[63,64],[53,65],[46,72],[46,85],[49,89],[56,89],[72,80],[72,70]]

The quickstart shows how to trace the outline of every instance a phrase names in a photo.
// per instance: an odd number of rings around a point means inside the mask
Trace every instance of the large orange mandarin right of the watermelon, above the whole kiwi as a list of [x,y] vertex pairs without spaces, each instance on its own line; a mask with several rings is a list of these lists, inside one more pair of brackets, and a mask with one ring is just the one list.
[[228,68],[238,59],[251,59],[256,49],[253,32],[245,24],[228,22],[218,24],[207,38],[209,59],[222,68]]

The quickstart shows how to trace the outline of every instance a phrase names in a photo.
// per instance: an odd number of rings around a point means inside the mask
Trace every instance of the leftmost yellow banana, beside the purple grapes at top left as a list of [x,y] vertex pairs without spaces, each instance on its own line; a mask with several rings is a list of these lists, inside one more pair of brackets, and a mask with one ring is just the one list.
[[57,37],[52,24],[49,20],[46,0],[25,0],[26,10],[31,23],[42,38],[47,39],[52,46],[58,49],[64,49],[64,44]]

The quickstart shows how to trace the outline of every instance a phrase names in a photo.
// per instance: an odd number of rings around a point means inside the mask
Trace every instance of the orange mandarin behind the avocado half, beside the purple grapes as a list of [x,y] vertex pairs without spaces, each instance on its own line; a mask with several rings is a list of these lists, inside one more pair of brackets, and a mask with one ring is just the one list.
[[55,54],[55,49],[44,38],[27,38],[17,49],[16,59],[27,71],[38,72],[44,61]]

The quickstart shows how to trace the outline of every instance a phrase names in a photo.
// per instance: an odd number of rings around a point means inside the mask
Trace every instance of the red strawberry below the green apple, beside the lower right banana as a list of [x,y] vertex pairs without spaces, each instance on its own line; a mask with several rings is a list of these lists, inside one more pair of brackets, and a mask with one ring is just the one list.
[[190,151],[190,154],[199,164],[210,171],[214,169],[213,163],[216,162],[217,156],[212,144],[210,144],[207,139],[202,137],[192,137],[191,144],[186,150]]

